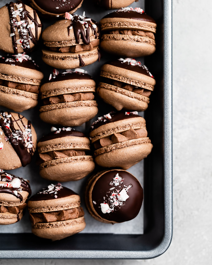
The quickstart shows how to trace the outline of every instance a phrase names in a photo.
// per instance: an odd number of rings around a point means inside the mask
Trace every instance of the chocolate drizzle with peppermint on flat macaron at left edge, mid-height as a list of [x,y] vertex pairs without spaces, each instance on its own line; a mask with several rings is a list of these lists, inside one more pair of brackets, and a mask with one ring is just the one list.
[[[1,111],[0,113],[0,127],[2,128],[5,136],[8,140],[15,152],[17,153],[22,166],[26,166],[31,162],[31,158],[33,155],[33,143],[32,143],[32,135],[31,135],[31,122],[28,121],[27,126],[23,123],[22,119],[24,116],[21,117],[21,115],[18,113],[18,119],[16,120],[12,113],[7,112],[10,117],[6,117],[6,113]],[[26,136],[24,136],[24,132],[20,125],[18,124],[18,121],[22,123],[23,128],[25,128],[25,133],[27,134],[27,139]],[[14,124],[17,124],[17,127],[19,129],[15,128]],[[25,142],[26,141],[26,142]],[[31,147],[30,147],[30,146]],[[29,148],[30,147],[30,148]]]

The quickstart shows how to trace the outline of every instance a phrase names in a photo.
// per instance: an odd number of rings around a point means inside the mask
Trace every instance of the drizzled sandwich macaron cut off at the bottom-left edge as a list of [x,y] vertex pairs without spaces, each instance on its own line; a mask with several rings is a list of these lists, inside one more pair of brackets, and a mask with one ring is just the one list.
[[0,169],[0,224],[14,224],[21,220],[30,195],[26,180]]

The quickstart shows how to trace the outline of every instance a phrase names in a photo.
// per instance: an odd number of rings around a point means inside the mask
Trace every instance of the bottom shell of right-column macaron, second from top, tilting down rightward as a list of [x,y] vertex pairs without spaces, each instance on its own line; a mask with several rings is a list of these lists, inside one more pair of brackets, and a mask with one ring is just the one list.
[[[144,111],[148,107],[149,99],[147,97],[112,85],[103,83],[103,85],[98,87],[97,93],[104,102],[112,105],[117,110],[125,108],[129,110]],[[142,98],[143,100],[136,99],[135,97]]]

